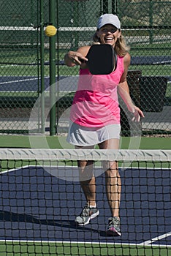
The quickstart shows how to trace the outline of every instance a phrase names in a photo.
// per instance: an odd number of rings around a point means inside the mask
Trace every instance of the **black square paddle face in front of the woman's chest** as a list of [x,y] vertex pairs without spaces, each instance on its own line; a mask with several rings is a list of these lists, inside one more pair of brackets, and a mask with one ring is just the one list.
[[86,58],[92,75],[108,75],[116,69],[117,55],[111,45],[92,45]]

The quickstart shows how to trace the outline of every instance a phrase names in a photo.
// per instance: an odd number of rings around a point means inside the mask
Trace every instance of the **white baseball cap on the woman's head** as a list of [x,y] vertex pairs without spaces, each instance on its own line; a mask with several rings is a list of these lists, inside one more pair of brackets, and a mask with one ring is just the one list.
[[121,22],[118,19],[118,16],[114,15],[114,14],[103,14],[100,16],[98,23],[97,23],[97,29],[102,28],[102,26],[106,25],[106,24],[111,24],[113,26],[115,26],[117,29],[121,29]]

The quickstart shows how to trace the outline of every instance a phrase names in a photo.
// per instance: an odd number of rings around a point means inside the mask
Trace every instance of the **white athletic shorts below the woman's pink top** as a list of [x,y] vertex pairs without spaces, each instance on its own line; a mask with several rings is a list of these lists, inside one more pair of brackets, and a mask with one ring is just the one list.
[[94,146],[112,138],[119,139],[120,132],[120,124],[110,124],[106,127],[94,128],[71,123],[66,141],[75,146]]

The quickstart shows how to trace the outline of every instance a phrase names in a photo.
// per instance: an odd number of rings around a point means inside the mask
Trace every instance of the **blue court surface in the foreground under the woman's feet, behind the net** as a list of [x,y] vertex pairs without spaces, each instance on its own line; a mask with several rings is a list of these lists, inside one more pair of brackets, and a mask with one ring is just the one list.
[[[71,167],[55,170],[66,169]],[[77,167],[72,171],[77,172]],[[99,217],[85,227],[74,221],[85,204],[77,181],[57,178],[47,168],[34,166],[1,173],[0,240],[171,246],[170,170],[128,168],[120,174],[122,236],[111,237],[105,232],[110,210],[104,173],[96,177]]]

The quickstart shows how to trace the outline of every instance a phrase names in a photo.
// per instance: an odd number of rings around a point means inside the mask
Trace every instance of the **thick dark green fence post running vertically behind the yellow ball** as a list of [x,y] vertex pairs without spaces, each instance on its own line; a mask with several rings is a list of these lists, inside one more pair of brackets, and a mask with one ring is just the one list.
[[[55,23],[55,0],[49,0],[49,23]],[[56,37],[50,43],[50,135],[56,135]]]

